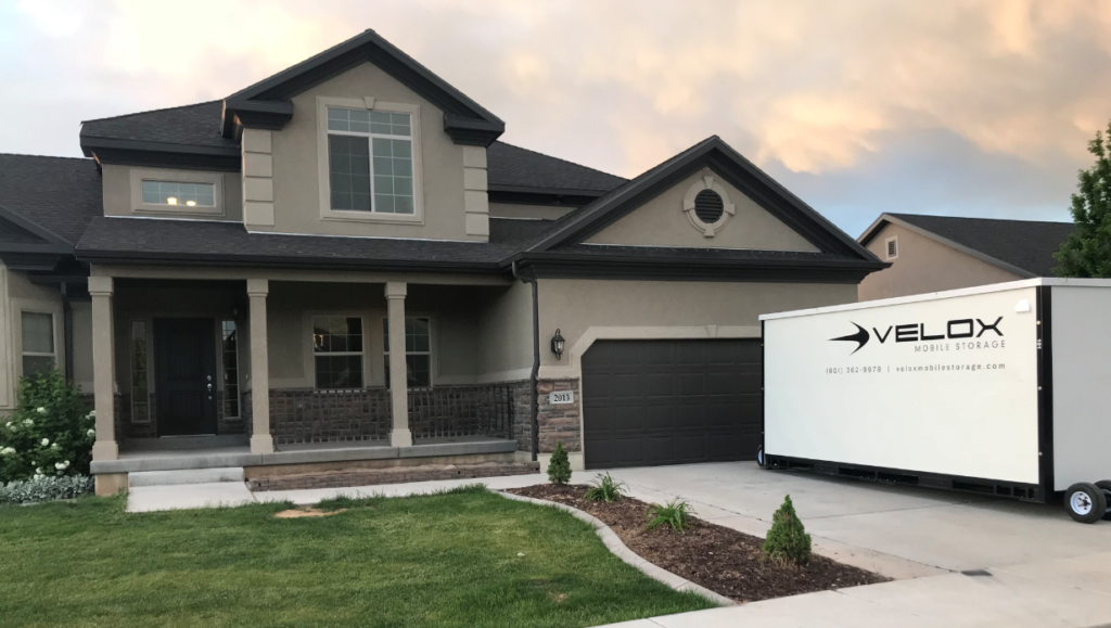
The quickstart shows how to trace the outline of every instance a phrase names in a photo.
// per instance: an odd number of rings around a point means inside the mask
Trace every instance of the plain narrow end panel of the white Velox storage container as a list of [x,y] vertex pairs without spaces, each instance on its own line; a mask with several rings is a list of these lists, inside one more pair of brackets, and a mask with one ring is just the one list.
[[1053,287],[1053,488],[1111,479],[1111,288]]

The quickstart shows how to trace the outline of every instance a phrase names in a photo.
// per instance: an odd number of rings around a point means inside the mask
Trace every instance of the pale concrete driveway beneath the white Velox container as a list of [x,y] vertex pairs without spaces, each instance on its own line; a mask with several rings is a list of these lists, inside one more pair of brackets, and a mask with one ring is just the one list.
[[[1111,521],[1075,524],[1060,505],[747,462],[611,472],[639,499],[682,497],[703,519],[759,536],[790,495],[815,551],[897,579],[622,625],[628,628],[1111,624]],[[582,481],[587,474],[575,476]]]

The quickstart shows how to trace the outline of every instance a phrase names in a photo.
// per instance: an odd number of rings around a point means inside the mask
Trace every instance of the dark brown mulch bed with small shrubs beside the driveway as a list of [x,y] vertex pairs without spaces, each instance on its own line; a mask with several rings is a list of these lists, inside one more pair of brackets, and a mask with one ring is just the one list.
[[885,582],[888,578],[814,555],[803,566],[761,560],[763,539],[694,519],[677,532],[649,530],[648,504],[625,497],[615,504],[583,501],[584,485],[539,485],[508,492],[558,501],[583,510],[610,527],[629,549],[672,574],[737,601]]

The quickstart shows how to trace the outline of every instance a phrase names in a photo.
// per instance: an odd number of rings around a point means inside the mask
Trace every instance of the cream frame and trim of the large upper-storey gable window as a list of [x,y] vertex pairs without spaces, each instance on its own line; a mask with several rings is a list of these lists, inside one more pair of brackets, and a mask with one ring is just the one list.
[[[370,133],[356,133],[328,130],[328,108],[366,109],[368,111],[388,111],[391,113],[409,113],[409,128],[412,132],[408,138],[412,142],[413,158],[413,212],[412,213],[378,213],[374,208],[374,191],[371,188],[371,211],[350,211],[332,209],[331,178],[328,169],[328,136],[354,136],[369,138]],[[379,136],[393,137],[396,136]],[[401,138],[396,138],[401,139]],[[373,150],[371,150],[371,185],[373,186]],[[382,102],[372,97],[366,98],[331,98],[317,97],[317,168],[320,185],[320,218],[321,220],[346,220],[353,222],[386,222],[413,225],[424,223],[424,201],[421,166],[420,139],[420,106],[402,102]]]

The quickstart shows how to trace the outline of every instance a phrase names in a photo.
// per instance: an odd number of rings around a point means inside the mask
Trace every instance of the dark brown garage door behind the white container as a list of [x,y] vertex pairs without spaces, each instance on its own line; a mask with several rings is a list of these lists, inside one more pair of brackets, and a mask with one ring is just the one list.
[[752,460],[760,340],[608,340],[582,358],[587,468]]

